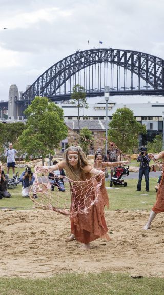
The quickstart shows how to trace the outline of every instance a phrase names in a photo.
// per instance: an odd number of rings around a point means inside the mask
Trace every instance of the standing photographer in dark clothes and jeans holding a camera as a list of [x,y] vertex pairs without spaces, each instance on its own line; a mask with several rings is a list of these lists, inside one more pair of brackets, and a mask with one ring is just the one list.
[[141,190],[141,182],[142,182],[143,175],[145,176],[146,191],[149,191],[149,172],[150,172],[149,162],[150,162],[150,158],[147,155],[146,148],[140,149],[140,153],[138,155],[137,162],[140,162],[137,191]]

